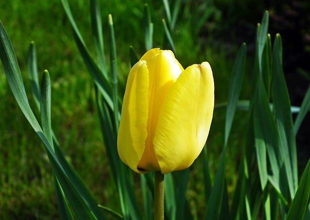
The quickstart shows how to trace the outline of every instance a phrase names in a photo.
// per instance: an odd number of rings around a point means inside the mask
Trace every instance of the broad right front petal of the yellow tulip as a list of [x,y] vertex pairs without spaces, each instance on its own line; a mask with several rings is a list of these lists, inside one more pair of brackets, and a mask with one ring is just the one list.
[[181,73],[158,119],[154,150],[162,174],[189,167],[206,142],[214,109],[214,80],[207,62]]

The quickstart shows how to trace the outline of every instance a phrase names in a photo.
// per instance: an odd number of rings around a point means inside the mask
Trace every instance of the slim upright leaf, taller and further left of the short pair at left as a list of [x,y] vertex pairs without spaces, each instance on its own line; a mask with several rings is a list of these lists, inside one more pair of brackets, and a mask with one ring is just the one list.
[[34,102],[37,105],[37,108],[40,109],[40,87],[37,69],[37,56],[33,41],[31,42],[28,51],[28,72]]

